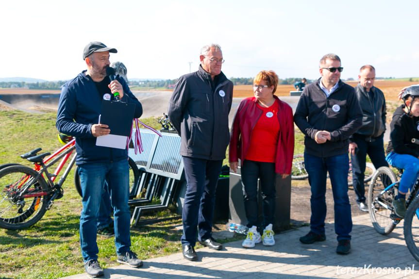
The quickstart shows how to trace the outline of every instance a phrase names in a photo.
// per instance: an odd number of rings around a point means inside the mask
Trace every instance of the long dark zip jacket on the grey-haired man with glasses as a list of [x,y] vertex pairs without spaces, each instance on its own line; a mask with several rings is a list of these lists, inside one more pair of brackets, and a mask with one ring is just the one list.
[[222,72],[213,81],[200,65],[198,71],[179,78],[169,100],[168,116],[181,136],[182,156],[225,158],[232,100],[233,82]]

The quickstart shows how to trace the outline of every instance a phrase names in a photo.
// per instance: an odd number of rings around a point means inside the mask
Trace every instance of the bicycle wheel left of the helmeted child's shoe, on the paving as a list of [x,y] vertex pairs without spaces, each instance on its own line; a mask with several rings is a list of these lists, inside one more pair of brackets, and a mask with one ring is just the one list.
[[383,190],[397,181],[396,175],[386,166],[377,169],[372,175],[368,190],[368,211],[374,229],[381,234],[390,233],[396,223],[390,217],[393,206],[391,202],[396,196],[397,189],[393,186],[384,193]]

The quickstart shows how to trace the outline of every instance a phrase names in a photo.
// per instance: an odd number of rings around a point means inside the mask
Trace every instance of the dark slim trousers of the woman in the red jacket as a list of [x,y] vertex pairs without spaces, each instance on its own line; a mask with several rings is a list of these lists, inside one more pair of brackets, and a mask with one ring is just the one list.
[[257,180],[260,179],[262,192],[262,228],[275,223],[275,163],[244,160],[241,165],[241,182],[243,185],[244,209],[247,226],[260,227],[258,219],[258,189]]

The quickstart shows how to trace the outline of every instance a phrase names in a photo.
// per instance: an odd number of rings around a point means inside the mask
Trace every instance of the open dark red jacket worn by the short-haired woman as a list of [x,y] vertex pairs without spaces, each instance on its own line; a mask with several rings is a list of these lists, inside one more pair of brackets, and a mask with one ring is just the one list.
[[[292,109],[287,103],[281,101],[275,95],[273,97],[278,100],[278,120],[280,124],[275,172],[290,174],[292,158],[294,156],[294,120]],[[243,161],[246,158],[251,132],[259,117],[262,115],[262,110],[256,106],[256,102],[256,98],[251,97],[243,99],[238,105],[231,129],[229,162],[238,162],[238,159]]]

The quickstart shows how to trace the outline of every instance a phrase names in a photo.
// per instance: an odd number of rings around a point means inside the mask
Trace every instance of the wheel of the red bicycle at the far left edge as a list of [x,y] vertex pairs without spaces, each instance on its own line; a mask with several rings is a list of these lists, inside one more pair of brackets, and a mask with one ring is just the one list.
[[[34,225],[47,211],[48,186],[35,180],[33,169],[14,165],[0,170],[0,228],[20,230]],[[24,192],[22,192],[24,191]]]

